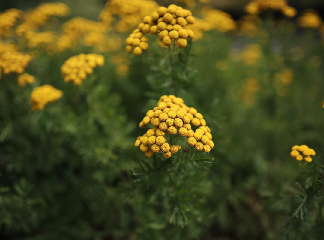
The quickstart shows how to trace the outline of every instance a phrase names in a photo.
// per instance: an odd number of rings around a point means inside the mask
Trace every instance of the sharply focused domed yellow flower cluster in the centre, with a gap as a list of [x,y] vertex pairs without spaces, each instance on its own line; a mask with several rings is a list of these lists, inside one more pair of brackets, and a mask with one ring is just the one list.
[[[166,132],[170,135],[178,133],[179,136],[187,137],[188,145],[198,151],[208,153],[214,147],[210,128],[206,126],[203,115],[196,109],[187,107],[180,97],[162,96],[157,106],[146,112],[139,126],[143,128],[147,124],[152,124],[154,127],[137,138],[135,147],[139,147],[148,157],[162,151],[162,155],[168,158],[181,149],[179,145],[170,146],[167,143]],[[193,131],[191,125],[199,128]]]

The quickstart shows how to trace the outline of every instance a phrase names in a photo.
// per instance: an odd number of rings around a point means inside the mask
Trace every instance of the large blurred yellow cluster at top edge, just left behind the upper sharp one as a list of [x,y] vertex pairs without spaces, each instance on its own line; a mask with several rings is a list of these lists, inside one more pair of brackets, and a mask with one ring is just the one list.
[[112,16],[116,16],[118,21],[114,24],[115,30],[125,32],[158,7],[159,5],[152,0],[110,0],[100,12],[99,20],[110,26]]

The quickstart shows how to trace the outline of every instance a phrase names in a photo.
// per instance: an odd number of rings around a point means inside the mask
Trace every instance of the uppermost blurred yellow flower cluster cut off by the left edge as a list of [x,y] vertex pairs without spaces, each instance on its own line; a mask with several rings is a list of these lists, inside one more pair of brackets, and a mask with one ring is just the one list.
[[8,34],[12,30],[21,13],[22,11],[15,8],[0,13],[0,37]]

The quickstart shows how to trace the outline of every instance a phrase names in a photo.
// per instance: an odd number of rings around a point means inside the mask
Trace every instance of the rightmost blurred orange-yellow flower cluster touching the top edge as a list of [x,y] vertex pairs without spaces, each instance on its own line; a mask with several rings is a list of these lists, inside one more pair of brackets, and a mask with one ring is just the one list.
[[288,6],[286,0],[253,0],[244,7],[244,10],[252,15],[259,15],[269,9],[281,11],[286,17],[295,17],[297,14],[296,9]]

